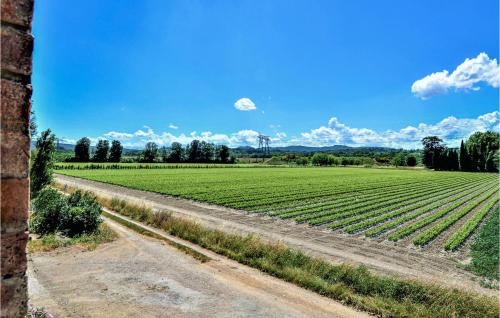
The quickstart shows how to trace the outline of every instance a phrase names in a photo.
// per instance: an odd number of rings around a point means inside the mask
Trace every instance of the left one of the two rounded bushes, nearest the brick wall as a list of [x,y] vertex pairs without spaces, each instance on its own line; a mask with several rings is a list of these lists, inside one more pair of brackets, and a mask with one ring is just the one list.
[[32,209],[30,230],[45,235],[58,230],[61,218],[69,207],[64,195],[52,188],[43,188],[32,201]]

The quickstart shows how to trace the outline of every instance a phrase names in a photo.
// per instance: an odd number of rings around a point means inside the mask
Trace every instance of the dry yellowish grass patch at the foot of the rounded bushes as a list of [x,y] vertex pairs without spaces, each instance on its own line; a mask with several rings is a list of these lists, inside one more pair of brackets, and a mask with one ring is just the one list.
[[99,229],[92,234],[83,234],[78,237],[68,238],[58,234],[47,234],[37,239],[28,241],[28,252],[49,252],[60,247],[78,246],[86,251],[92,251],[100,244],[113,241],[116,233],[106,224],[99,225]]

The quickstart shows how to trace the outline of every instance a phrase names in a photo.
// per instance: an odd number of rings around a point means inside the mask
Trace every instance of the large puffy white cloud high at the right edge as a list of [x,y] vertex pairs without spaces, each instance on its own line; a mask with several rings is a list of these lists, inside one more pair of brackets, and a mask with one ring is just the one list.
[[411,91],[417,97],[428,99],[445,94],[450,88],[477,91],[480,87],[476,84],[480,82],[500,87],[500,66],[496,59],[490,59],[484,52],[475,58],[467,58],[451,74],[443,70],[415,81]]

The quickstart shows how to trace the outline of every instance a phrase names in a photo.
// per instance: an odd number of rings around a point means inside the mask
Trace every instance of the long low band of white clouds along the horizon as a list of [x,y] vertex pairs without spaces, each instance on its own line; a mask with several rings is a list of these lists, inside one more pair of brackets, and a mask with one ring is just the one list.
[[[375,131],[369,128],[355,128],[342,123],[338,118],[332,117],[324,126],[303,132],[299,136],[288,135],[283,131],[275,131],[271,135],[271,146],[304,145],[304,146],[378,146],[393,148],[420,148],[423,137],[436,135],[442,138],[448,146],[456,147],[460,140],[468,138],[476,131],[500,131],[500,112],[494,111],[478,116],[477,118],[456,118],[449,116],[443,120],[416,126],[407,126],[399,130]],[[159,146],[170,146],[172,142],[183,145],[193,139],[204,140],[216,144],[225,144],[230,147],[253,146],[258,144],[259,133],[252,129],[240,130],[230,134],[203,131],[192,131],[189,134],[172,134],[170,132],[155,132],[152,128],[144,126],[134,133],[110,131],[97,139],[117,139],[122,141],[127,148],[142,148],[144,144],[153,141]]]

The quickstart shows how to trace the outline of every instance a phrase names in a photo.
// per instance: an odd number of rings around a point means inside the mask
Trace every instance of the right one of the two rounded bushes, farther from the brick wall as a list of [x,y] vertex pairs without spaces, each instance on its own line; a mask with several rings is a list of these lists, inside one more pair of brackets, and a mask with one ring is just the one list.
[[69,237],[90,234],[101,223],[101,205],[94,195],[76,191],[68,199],[69,209],[63,215],[59,230]]

